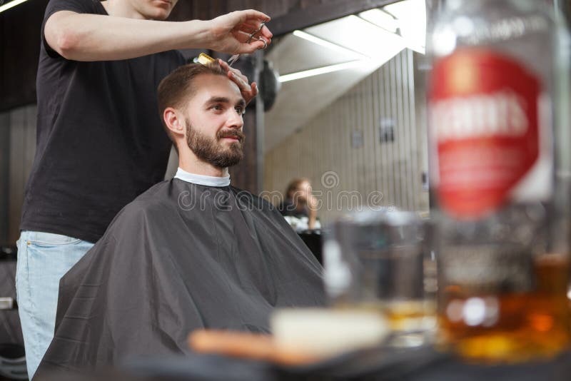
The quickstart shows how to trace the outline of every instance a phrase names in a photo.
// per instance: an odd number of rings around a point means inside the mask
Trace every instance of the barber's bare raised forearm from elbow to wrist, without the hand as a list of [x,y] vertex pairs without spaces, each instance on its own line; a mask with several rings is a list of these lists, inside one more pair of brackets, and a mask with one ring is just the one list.
[[46,41],[66,59],[132,59],[171,49],[208,46],[205,21],[150,21],[60,11],[44,29]]

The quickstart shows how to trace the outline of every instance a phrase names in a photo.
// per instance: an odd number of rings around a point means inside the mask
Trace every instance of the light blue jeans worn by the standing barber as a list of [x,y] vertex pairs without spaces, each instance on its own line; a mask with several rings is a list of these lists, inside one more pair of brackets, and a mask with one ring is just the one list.
[[22,231],[16,245],[16,295],[31,380],[54,337],[59,280],[94,244],[66,235]]

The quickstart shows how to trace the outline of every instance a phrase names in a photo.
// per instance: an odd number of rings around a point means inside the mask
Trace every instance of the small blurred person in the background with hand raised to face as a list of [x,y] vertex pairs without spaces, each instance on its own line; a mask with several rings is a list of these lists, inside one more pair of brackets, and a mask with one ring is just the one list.
[[311,183],[307,178],[294,178],[285,191],[285,200],[278,210],[295,231],[320,229],[317,218],[317,199],[311,193]]

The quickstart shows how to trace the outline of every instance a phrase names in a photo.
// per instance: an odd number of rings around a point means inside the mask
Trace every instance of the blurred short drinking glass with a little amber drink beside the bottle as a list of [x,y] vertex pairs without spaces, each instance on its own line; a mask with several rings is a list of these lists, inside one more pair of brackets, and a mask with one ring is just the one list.
[[333,307],[385,317],[390,345],[424,345],[435,328],[435,300],[425,292],[425,228],[415,213],[367,210],[337,221],[323,245]]

